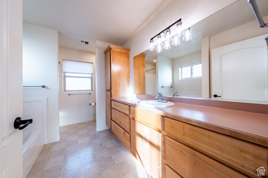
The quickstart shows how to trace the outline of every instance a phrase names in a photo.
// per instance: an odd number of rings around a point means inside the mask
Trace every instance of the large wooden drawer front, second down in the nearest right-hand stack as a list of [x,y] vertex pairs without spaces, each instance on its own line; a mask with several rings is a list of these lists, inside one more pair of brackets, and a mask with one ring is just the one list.
[[167,136],[164,153],[166,164],[184,177],[246,177]]

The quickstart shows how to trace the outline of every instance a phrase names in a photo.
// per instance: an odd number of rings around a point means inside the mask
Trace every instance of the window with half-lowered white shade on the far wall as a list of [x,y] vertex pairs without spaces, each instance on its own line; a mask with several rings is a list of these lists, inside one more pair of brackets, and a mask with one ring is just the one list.
[[64,92],[93,91],[93,63],[63,60]]

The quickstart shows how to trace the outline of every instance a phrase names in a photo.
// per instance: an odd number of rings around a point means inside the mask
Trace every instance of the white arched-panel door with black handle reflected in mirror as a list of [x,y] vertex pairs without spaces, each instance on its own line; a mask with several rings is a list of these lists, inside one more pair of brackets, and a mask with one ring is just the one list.
[[212,98],[268,101],[266,36],[211,50]]

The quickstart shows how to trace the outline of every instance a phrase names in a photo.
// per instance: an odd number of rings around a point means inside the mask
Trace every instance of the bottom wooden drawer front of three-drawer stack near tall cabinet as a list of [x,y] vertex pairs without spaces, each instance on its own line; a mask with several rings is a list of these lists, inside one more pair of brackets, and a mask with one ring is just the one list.
[[111,126],[114,135],[130,150],[130,135],[114,121],[111,121]]

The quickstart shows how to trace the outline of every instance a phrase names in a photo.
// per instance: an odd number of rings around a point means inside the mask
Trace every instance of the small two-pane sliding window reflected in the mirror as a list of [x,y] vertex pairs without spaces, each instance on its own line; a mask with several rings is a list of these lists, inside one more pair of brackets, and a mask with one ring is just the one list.
[[192,64],[180,66],[180,79],[200,78],[202,77],[202,64],[195,62]]

